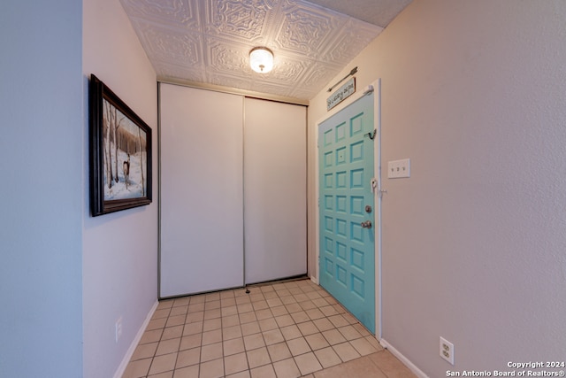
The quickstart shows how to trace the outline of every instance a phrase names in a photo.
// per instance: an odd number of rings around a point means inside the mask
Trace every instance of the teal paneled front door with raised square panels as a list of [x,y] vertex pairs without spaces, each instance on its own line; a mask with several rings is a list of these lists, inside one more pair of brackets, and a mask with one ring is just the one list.
[[373,97],[318,128],[320,285],[375,333]]

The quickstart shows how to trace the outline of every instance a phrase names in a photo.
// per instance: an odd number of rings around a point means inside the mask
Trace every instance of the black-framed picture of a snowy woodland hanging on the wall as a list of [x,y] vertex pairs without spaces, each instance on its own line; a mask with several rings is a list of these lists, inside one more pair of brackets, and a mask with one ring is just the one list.
[[151,203],[151,128],[94,74],[89,83],[93,217]]

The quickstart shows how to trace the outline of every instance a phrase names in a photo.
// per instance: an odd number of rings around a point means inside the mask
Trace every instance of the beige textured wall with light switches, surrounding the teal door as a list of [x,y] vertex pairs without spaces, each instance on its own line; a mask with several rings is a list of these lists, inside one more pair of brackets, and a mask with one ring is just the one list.
[[382,79],[382,161],[411,159],[384,179],[383,336],[431,377],[563,359],[564,41],[561,0],[415,0],[333,80]]

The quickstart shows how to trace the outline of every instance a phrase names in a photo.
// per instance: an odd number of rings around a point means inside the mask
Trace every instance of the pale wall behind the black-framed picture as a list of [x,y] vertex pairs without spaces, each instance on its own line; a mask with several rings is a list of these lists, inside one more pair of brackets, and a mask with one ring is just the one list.
[[[97,378],[116,372],[157,301],[157,77],[119,0],[84,0],[83,7],[84,377]],[[152,128],[153,138],[153,203],[96,218],[88,210],[90,73]]]

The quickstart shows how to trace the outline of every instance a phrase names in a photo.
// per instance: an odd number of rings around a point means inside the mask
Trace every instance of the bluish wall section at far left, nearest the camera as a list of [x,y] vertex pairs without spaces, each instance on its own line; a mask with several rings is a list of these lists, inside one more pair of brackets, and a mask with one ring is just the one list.
[[82,371],[81,4],[0,3],[0,376]]

